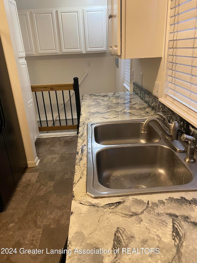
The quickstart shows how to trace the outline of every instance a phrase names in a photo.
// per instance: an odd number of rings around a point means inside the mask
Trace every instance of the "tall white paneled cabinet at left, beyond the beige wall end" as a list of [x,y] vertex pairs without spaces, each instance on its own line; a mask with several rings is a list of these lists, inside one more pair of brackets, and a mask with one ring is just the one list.
[[22,41],[22,34],[19,25],[19,18],[14,0],[4,0],[8,25],[10,29],[10,37],[13,44],[16,65],[18,68],[18,76],[20,80],[22,96],[25,106],[25,112],[30,132],[31,145],[34,153],[34,162],[28,162],[28,166],[35,166],[39,160],[35,149],[35,140],[39,135],[38,125],[35,117],[34,102],[32,98],[29,74],[25,60],[25,50]]

